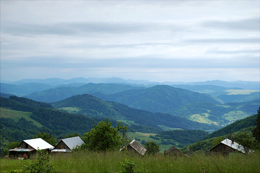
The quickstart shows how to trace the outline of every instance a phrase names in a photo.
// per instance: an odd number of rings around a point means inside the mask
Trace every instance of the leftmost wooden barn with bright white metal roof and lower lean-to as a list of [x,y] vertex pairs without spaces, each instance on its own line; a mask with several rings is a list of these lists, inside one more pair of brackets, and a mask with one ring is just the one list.
[[9,156],[23,157],[23,155],[26,154],[26,157],[29,159],[30,157],[38,154],[38,149],[51,152],[51,149],[53,148],[54,146],[50,145],[48,142],[44,141],[41,138],[28,139],[22,141],[17,148],[9,150]]

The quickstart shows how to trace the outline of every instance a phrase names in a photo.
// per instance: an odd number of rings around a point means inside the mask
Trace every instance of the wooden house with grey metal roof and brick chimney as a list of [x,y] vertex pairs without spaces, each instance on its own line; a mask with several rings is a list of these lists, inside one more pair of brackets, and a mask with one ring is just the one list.
[[73,148],[75,148],[76,146],[81,146],[81,144],[83,143],[83,140],[80,139],[79,136],[66,139],[59,138],[59,143],[57,146],[54,147],[52,152],[72,152]]

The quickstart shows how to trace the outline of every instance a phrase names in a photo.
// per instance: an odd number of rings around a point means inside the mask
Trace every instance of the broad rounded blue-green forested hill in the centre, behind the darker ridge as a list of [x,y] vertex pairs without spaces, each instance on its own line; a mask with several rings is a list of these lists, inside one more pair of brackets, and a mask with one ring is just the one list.
[[165,112],[198,101],[208,101],[216,104],[224,103],[207,94],[173,88],[169,85],[156,85],[145,89],[127,90],[111,95],[94,94],[94,96],[102,100],[114,101],[135,109],[151,112]]

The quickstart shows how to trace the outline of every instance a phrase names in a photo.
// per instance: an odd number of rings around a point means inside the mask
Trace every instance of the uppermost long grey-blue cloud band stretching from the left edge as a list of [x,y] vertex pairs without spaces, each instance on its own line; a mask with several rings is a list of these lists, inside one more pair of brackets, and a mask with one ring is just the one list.
[[[1,21],[1,31],[13,35],[73,35],[82,33],[110,33],[126,34],[133,32],[149,32],[170,30],[172,32],[180,31],[180,26],[160,25],[158,23],[127,23],[127,22],[60,22],[52,24],[33,24],[22,22]],[[89,35],[87,35],[89,36]]]

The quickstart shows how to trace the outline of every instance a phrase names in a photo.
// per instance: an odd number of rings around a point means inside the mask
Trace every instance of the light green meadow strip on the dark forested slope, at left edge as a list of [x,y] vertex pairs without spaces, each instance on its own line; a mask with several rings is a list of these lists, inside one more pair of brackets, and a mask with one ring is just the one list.
[[32,121],[34,125],[41,128],[43,125],[40,124],[38,121],[35,121],[34,119],[32,119],[31,115],[32,115],[32,112],[22,112],[22,111],[17,111],[17,110],[3,109],[2,107],[0,108],[0,117],[11,118],[15,122],[18,122],[18,120],[21,117],[24,117],[27,121]]

